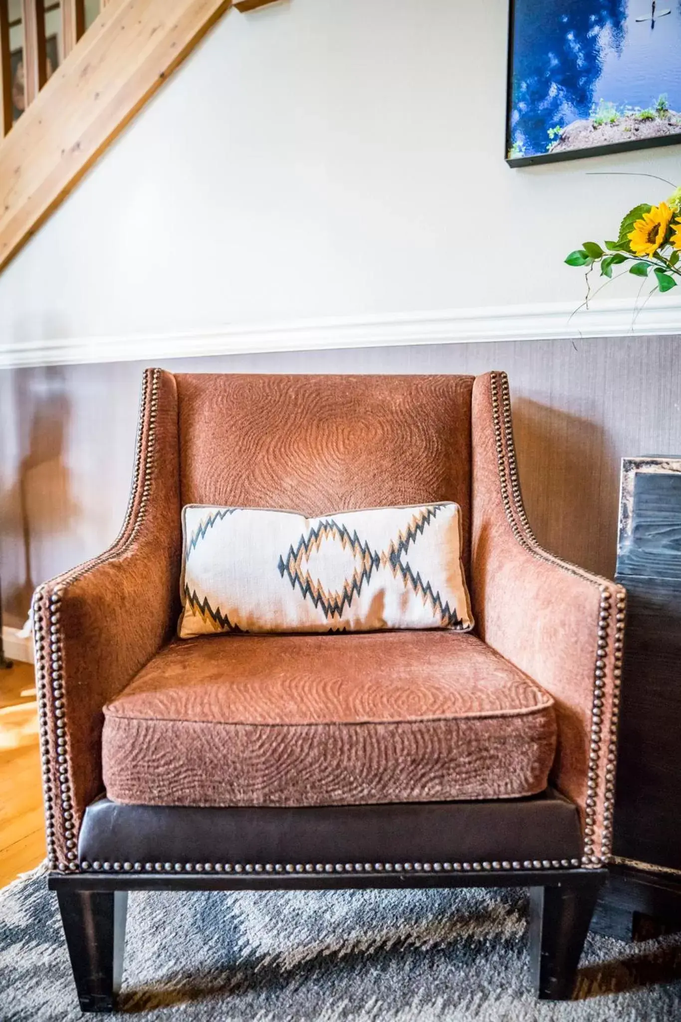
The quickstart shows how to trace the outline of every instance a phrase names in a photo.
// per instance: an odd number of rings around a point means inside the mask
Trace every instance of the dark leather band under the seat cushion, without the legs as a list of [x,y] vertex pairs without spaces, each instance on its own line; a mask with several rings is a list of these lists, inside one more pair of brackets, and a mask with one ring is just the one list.
[[[576,806],[547,789],[532,798],[295,808],[88,806],[79,839],[84,869],[167,872],[575,868]],[[250,868],[250,869],[248,869]]]

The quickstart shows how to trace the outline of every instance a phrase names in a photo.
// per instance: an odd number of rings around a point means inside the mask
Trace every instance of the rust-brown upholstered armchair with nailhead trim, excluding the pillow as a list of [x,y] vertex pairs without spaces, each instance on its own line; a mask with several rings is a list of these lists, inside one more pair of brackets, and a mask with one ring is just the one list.
[[[174,638],[184,504],[447,500],[475,634]],[[537,992],[570,996],[611,848],[624,603],[537,545],[502,373],[147,371],[120,535],[34,599],[83,1010],[112,1008],[128,891],[159,887],[529,886]]]

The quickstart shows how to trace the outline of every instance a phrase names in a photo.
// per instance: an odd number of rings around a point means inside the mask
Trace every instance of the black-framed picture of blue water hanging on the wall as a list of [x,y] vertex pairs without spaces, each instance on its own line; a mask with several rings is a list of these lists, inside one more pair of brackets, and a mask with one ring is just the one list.
[[510,167],[681,143],[681,0],[510,0]]

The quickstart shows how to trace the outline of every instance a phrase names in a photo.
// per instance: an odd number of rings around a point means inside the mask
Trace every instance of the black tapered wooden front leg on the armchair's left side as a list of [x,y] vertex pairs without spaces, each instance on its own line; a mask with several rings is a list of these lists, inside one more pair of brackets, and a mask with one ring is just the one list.
[[111,1012],[120,988],[128,891],[57,891],[84,1012]]

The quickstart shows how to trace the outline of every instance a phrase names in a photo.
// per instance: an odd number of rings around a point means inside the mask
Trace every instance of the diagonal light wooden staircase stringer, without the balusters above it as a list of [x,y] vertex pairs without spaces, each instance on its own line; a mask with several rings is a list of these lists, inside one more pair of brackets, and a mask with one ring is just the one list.
[[229,6],[107,3],[0,144],[0,269]]

